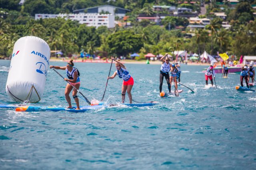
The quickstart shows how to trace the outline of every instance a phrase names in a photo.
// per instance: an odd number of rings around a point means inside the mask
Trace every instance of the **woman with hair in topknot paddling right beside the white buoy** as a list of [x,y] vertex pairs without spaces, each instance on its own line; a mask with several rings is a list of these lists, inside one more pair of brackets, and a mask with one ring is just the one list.
[[[68,78],[64,78],[65,81],[70,82],[77,90],[80,87],[80,78],[79,78],[79,71],[77,68],[74,68],[74,63],[73,60],[71,59],[66,66],[61,67],[61,66],[50,66],[50,68],[55,68],[59,70],[66,70],[66,75]],[[70,92],[73,89],[72,96],[76,102],[76,109],[79,110],[79,100],[77,94],[77,90],[73,88],[69,83],[67,83],[66,88],[65,88],[65,97],[68,102],[68,109],[72,109],[72,104],[71,104],[71,99],[70,99]]]

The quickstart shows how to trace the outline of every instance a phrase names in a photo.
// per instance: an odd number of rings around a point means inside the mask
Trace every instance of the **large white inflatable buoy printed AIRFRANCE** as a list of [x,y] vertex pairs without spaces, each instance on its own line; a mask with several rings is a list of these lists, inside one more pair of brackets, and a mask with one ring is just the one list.
[[50,60],[50,47],[41,38],[26,36],[14,44],[6,93],[16,102],[38,102]]

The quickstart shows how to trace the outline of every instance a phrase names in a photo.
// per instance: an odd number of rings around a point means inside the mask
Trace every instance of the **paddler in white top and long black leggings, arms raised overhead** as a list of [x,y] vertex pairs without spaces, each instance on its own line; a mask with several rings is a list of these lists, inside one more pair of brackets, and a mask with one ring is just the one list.
[[160,68],[160,86],[159,86],[159,90],[160,93],[162,92],[162,85],[163,85],[163,80],[165,78],[167,85],[168,85],[168,90],[169,93],[171,92],[171,85],[170,85],[170,76],[169,76],[169,71],[170,71],[170,59],[168,57],[168,53],[166,53],[161,59],[160,61],[162,61],[162,65]]

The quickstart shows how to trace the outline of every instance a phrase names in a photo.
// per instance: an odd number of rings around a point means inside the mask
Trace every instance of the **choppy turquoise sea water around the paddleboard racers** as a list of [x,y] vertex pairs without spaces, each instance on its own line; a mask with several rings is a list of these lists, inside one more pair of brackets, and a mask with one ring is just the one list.
[[[0,104],[10,61],[0,61]],[[51,62],[64,66],[65,63]],[[0,110],[1,169],[254,169],[256,95],[238,92],[239,74],[206,88],[205,66],[182,65],[179,97],[160,98],[160,65],[125,64],[134,78],[132,95],[154,107],[113,107],[85,113]],[[75,63],[81,92],[100,100],[110,64]],[[114,72],[112,66],[111,74]],[[60,71],[65,75],[64,71]],[[25,76],[25,75],[24,75]],[[210,82],[210,81],[209,81]],[[33,105],[67,106],[66,83],[49,70],[44,96]],[[122,80],[109,80],[104,97],[120,103]],[[163,90],[167,91],[164,82]],[[172,86],[172,90],[174,87]],[[74,103],[74,100],[72,100]],[[128,102],[128,98],[126,98]],[[81,105],[87,105],[80,99]],[[74,105],[74,104],[73,104]]]

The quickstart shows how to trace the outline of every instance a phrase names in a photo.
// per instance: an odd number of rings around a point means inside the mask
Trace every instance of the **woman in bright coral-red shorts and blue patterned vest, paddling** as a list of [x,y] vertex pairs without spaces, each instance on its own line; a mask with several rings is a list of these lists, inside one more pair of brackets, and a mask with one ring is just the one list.
[[114,57],[111,58],[112,60],[116,61],[116,71],[114,72],[114,74],[110,77],[108,77],[108,79],[113,79],[115,78],[116,75],[119,76],[119,78],[123,79],[123,85],[122,85],[122,103],[124,103],[125,100],[125,94],[126,94],[126,90],[128,93],[128,97],[130,100],[130,104],[132,103],[132,86],[134,84],[134,80],[132,78],[132,76],[129,74],[128,70],[126,69],[126,67],[124,66],[124,64],[122,64],[119,60],[114,59]]

